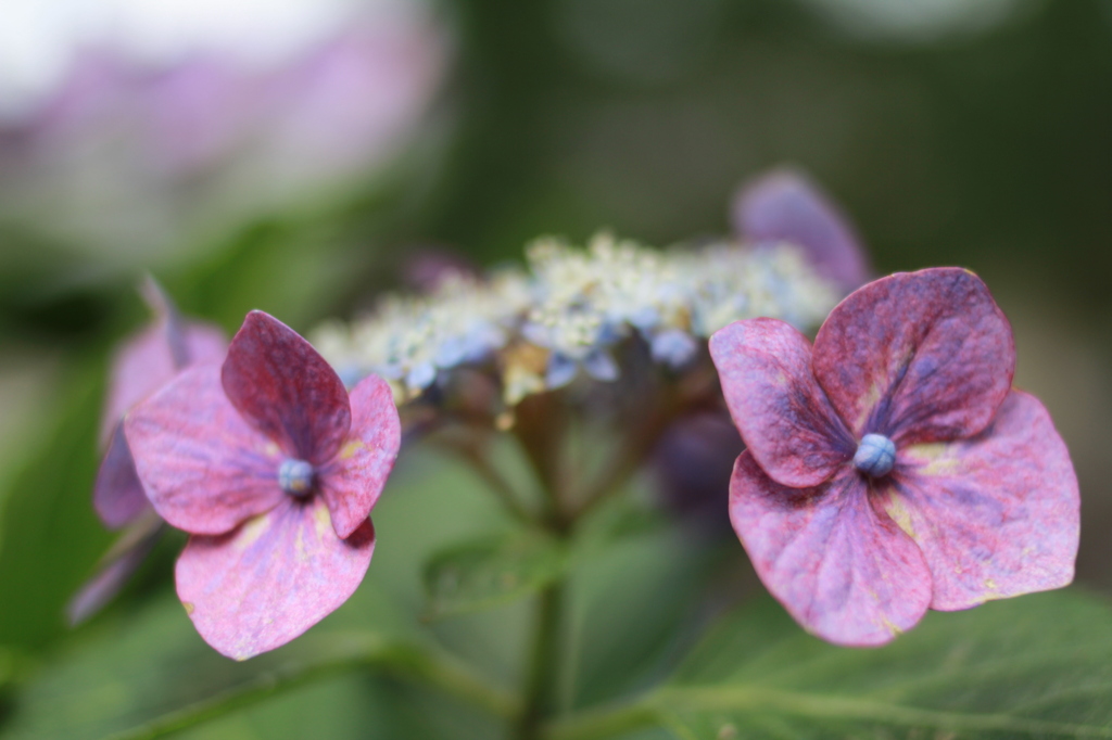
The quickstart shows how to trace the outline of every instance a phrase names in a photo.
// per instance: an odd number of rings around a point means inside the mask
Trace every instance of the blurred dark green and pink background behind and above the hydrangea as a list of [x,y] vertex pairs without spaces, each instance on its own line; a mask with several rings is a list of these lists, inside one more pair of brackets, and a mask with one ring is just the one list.
[[251,308],[304,331],[420,250],[725,233],[783,163],[880,271],[986,280],[1078,468],[1080,580],[1112,592],[1112,1],[6,0],[0,646],[76,639],[142,270],[229,332]]

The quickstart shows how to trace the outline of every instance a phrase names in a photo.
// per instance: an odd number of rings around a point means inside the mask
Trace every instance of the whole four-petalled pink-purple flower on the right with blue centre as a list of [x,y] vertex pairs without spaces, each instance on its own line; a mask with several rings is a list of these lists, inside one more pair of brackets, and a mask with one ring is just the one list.
[[832,642],[874,646],[927,608],[1065,586],[1078,481],[1011,328],[957,268],[843,300],[812,347],[775,319],[711,339],[745,440],[729,516],[757,574]]

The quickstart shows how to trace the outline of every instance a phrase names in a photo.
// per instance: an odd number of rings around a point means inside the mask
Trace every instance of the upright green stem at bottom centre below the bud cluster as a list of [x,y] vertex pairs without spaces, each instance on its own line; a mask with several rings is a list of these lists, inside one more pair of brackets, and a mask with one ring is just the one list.
[[517,722],[518,740],[537,740],[542,722],[555,707],[563,611],[564,587],[555,583],[545,589],[537,600],[536,629],[526,668],[522,713]]

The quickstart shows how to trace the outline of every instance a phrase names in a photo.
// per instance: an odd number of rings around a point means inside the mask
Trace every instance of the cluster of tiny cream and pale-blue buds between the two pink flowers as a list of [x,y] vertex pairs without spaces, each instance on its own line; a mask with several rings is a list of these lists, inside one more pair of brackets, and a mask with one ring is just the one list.
[[774,317],[810,330],[840,298],[790,243],[658,251],[602,233],[585,249],[540,239],[526,258],[526,270],[451,276],[429,294],[388,296],[350,324],[320,327],[312,341],[346,383],[376,373],[399,401],[454,368],[494,361],[513,406],[580,372],[616,380],[612,348],[632,336],[678,370],[732,321]]

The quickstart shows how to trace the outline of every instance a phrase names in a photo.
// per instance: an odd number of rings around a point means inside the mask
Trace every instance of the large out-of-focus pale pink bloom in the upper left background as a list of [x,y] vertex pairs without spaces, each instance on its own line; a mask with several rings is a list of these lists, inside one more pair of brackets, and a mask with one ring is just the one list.
[[80,50],[38,109],[0,122],[2,214],[149,266],[371,178],[420,130],[448,58],[424,4],[386,4],[269,64]]

